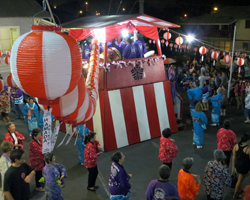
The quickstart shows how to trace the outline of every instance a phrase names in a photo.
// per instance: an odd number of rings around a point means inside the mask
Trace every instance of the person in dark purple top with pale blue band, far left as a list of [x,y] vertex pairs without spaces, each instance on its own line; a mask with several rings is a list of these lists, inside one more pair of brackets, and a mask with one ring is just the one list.
[[23,91],[18,86],[11,91],[11,99],[14,99],[17,119],[23,119]]

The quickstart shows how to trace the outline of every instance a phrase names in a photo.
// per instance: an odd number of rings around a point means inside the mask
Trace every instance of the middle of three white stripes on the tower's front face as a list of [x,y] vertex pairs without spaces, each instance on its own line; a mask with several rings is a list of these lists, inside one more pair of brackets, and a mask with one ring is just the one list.
[[151,138],[143,86],[133,87],[136,117],[141,141]]

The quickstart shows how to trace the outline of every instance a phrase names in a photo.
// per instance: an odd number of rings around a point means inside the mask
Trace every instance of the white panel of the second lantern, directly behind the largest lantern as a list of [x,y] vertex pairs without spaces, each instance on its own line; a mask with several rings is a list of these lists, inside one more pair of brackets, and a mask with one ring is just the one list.
[[78,85],[75,87],[73,91],[69,94],[60,97],[60,109],[61,109],[61,117],[65,117],[73,113],[78,104]]

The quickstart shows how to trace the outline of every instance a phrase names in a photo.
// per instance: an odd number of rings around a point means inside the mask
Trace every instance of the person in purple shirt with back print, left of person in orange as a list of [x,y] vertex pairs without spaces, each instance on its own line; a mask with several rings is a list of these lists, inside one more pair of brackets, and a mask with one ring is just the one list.
[[167,197],[175,197],[180,200],[177,187],[169,182],[170,169],[167,165],[159,168],[159,179],[152,180],[145,193],[147,200],[165,200]]

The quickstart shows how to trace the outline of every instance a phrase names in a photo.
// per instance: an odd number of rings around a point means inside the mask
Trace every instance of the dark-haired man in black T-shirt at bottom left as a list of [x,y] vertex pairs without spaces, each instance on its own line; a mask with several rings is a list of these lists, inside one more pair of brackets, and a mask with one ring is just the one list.
[[4,195],[7,200],[30,199],[29,183],[36,174],[27,163],[25,163],[24,151],[14,149],[10,153],[12,165],[4,176]]

